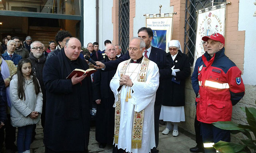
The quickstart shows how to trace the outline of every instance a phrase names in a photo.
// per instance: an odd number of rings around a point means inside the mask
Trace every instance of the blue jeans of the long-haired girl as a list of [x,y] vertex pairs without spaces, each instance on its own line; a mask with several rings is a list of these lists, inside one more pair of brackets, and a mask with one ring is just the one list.
[[22,152],[25,152],[26,150],[30,150],[33,127],[34,125],[18,127],[18,135],[17,135],[18,153],[22,153]]

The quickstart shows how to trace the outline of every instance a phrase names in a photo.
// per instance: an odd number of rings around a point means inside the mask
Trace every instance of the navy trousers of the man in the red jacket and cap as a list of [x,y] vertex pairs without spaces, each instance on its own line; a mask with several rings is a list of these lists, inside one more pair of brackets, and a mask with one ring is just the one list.
[[[222,130],[212,124],[201,122],[201,133],[203,143],[217,143],[219,141],[230,142],[230,130]],[[216,153],[213,147],[205,148],[205,153]]]

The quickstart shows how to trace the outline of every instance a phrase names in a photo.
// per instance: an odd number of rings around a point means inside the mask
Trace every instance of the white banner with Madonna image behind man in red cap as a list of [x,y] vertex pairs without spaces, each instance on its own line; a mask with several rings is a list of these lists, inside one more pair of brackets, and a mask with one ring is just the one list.
[[225,15],[226,3],[198,10],[196,50],[193,67],[195,66],[196,59],[204,54],[203,36],[210,36],[218,32],[225,37]]

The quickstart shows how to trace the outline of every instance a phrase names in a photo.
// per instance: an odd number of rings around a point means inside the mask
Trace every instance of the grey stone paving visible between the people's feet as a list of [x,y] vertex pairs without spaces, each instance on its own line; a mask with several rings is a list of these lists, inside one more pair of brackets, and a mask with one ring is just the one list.
[[[171,132],[167,135],[163,135],[162,131],[164,129],[165,126],[159,127],[159,153],[189,153],[189,148],[196,146],[196,142],[195,140],[193,140],[192,134],[187,133],[182,129],[179,129],[179,136],[173,137]],[[44,134],[40,123],[38,123],[37,125],[36,133],[37,135],[35,136],[35,140],[30,146],[30,152],[44,153]],[[112,145],[107,145],[104,149],[101,149],[98,146],[99,143],[95,140],[95,126],[91,126],[89,153],[112,153]],[[5,152],[11,153],[10,150],[5,150]]]

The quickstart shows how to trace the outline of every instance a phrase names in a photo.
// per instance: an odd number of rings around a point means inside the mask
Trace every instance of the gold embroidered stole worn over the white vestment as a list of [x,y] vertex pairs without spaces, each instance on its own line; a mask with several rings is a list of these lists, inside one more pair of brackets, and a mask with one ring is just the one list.
[[[130,61],[131,59],[127,60],[124,63],[120,72],[120,76],[123,76],[125,74],[125,71]],[[137,78],[138,82],[146,82],[148,63],[149,63],[149,59],[143,57],[140,70],[139,70],[139,75]],[[115,144],[118,144],[118,135],[119,135],[119,128],[120,128],[120,114],[121,114],[121,98],[120,97],[121,95],[118,94],[118,101],[116,102],[116,108],[115,108],[115,129],[114,129]],[[138,148],[141,148],[142,146],[143,121],[144,121],[144,110],[140,112],[134,111],[133,126],[132,126],[132,148],[138,149]]]

